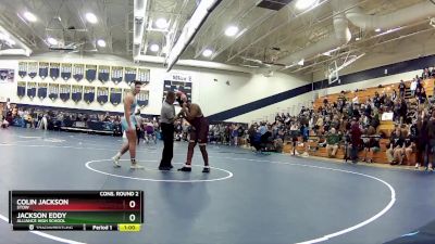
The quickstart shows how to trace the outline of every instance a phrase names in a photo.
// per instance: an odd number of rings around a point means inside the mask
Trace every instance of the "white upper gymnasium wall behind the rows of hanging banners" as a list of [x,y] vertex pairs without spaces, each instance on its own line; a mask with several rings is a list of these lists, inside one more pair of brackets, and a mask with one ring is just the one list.
[[[110,102],[100,105],[96,101],[94,103],[87,104],[82,101],[75,103],[72,100],[66,102],[60,99],[51,101],[46,98],[40,100],[39,98],[34,98],[30,100],[28,97],[18,98],[16,95],[17,81],[40,81],[39,76],[30,79],[28,76],[22,79],[18,73],[18,62],[20,61],[38,61],[38,62],[59,62],[59,63],[82,63],[82,64],[97,64],[97,65],[111,65],[111,66],[138,66],[129,62],[127,59],[113,56],[113,55],[86,55],[80,56],[78,54],[65,54],[65,53],[42,53],[32,56],[30,59],[5,59],[0,60],[0,68],[13,68],[15,69],[15,80],[12,84],[0,82],[0,101],[10,98],[13,103],[18,104],[33,104],[42,106],[54,106],[54,107],[71,107],[90,111],[109,111],[109,112],[123,112],[123,106],[112,105]],[[160,114],[162,98],[163,98],[163,81],[166,77],[175,74],[179,74],[184,77],[189,77],[192,82],[192,101],[201,105],[202,111],[206,115],[212,116],[219,114],[226,110],[233,107],[243,106],[244,104],[262,100],[264,98],[274,95],[276,93],[291,90],[301,86],[307,85],[302,78],[294,77],[285,74],[275,74],[273,77],[264,77],[262,75],[252,75],[235,72],[224,72],[216,69],[204,69],[204,68],[189,68],[176,66],[171,74],[167,74],[164,68],[160,65],[140,65],[140,67],[150,69],[150,82],[142,89],[149,90],[149,104],[141,108],[142,114]],[[50,77],[45,79],[46,82],[52,82]],[[73,78],[66,82],[59,78],[57,80],[59,84],[69,85],[80,85],[80,86],[98,86],[98,87],[117,87],[117,88],[128,88],[126,82],[121,82],[114,85],[112,81],[102,84],[99,80],[89,82],[86,79],[77,82]],[[303,101],[302,101],[303,99]],[[294,105],[299,105],[302,103],[309,103],[311,97],[304,94],[298,98],[288,98],[286,101],[279,101],[279,104],[269,105],[265,107],[259,106],[258,110],[252,112],[244,113],[241,116],[239,114],[232,115],[232,117],[222,120],[232,120],[240,123],[250,123],[258,118],[263,118],[260,115],[275,114],[288,108]]]

